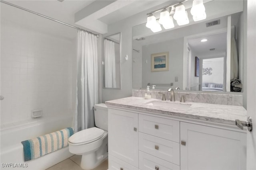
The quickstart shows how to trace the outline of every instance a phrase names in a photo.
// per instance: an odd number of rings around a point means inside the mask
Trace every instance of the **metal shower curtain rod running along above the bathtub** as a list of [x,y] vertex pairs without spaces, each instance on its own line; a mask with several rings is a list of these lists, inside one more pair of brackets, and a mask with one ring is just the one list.
[[68,24],[68,23],[64,23],[64,22],[62,22],[62,21],[55,20],[55,19],[50,18],[50,17],[48,17],[48,16],[44,16],[44,15],[39,14],[39,13],[37,13],[37,12],[34,12],[34,11],[31,11],[31,10],[28,10],[28,9],[26,9],[26,8],[22,8],[22,7],[20,7],[20,6],[16,6],[16,5],[14,5],[14,4],[11,4],[11,3],[6,2],[6,1],[3,1],[3,0],[0,0],[0,1],[1,1],[2,3],[4,3],[4,4],[8,4],[8,5],[10,5],[10,6],[14,6],[14,7],[19,8],[19,9],[21,9],[21,10],[24,10],[24,11],[30,12],[30,13],[32,13],[32,14],[36,14],[36,15],[38,15],[38,16],[41,16],[41,17],[47,18],[47,19],[49,19],[49,20],[52,20],[52,21],[55,21],[55,22],[61,23],[61,24],[63,24],[63,25],[67,25],[67,26],[69,26],[69,27],[72,27],[72,28],[78,29],[78,30],[80,30],[80,31],[85,31],[85,32],[87,32],[87,33],[90,33],[90,34],[93,34],[93,35],[96,35],[97,37],[99,37],[99,35],[98,35],[98,34],[92,33],[92,32],[90,32],[90,31],[86,31],[86,30],[81,29],[81,28],[78,28],[78,27],[75,27],[75,26],[70,25],[70,24]]

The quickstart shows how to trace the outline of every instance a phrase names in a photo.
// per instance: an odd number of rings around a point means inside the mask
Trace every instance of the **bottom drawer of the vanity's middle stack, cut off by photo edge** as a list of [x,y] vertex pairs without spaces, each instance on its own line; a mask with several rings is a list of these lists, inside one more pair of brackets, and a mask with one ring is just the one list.
[[180,166],[139,151],[140,170],[180,170]]

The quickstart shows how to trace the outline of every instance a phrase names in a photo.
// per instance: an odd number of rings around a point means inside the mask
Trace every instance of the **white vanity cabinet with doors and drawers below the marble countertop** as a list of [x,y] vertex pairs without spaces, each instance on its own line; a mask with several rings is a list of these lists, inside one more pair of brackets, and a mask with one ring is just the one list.
[[246,131],[108,109],[109,170],[244,170]]

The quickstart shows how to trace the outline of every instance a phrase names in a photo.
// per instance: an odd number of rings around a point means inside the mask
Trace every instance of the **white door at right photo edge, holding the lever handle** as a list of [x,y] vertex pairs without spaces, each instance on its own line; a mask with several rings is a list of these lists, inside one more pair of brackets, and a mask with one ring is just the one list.
[[256,169],[256,0],[247,1],[247,115],[252,132],[247,131],[247,169]]

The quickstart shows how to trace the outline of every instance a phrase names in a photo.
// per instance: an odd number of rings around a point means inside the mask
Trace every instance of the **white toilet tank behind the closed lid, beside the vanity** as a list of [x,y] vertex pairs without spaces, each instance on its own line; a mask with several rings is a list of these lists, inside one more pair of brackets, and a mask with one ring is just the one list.
[[106,104],[94,105],[94,120],[96,127],[108,131],[108,107]]

